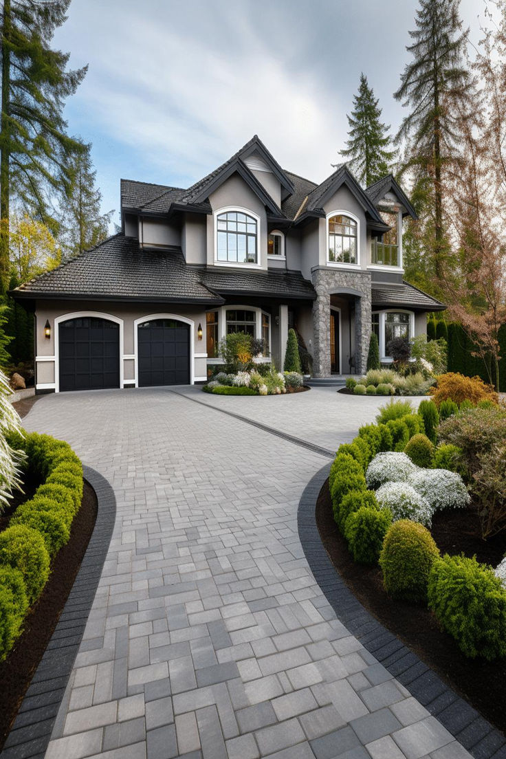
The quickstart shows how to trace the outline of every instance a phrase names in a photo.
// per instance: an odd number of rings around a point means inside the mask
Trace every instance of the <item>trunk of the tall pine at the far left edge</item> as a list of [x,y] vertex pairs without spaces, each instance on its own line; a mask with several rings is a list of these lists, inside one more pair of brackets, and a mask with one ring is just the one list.
[[2,27],[2,119],[0,121],[0,295],[5,294],[7,291],[9,279],[11,0],[4,0]]

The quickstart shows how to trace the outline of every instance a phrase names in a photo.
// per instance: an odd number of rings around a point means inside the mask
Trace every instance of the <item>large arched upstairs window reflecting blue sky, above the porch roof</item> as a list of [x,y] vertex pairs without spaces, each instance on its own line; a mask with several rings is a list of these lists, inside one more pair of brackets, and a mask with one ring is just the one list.
[[256,263],[257,225],[253,216],[240,211],[220,213],[217,219],[218,261]]

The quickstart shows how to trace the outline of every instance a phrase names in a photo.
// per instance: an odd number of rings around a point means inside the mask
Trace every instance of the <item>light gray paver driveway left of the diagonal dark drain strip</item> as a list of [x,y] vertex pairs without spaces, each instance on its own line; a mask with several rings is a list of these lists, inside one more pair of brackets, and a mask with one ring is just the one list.
[[[357,429],[372,408],[351,400]],[[118,502],[48,759],[468,756],[310,572],[297,505],[328,458],[168,389],[47,396],[25,424],[71,442]]]

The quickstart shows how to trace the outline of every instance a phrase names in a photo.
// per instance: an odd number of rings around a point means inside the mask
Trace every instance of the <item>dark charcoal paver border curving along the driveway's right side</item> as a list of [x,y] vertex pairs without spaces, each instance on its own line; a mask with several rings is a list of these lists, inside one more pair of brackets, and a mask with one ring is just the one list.
[[315,516],[316,500],[329,469],[330,465],[322,467],[306,485],[299,502],[297,526],[307,562],[336,616],[473,757],[504,759],[504,735],[369,614],[335,569],[322,544]]

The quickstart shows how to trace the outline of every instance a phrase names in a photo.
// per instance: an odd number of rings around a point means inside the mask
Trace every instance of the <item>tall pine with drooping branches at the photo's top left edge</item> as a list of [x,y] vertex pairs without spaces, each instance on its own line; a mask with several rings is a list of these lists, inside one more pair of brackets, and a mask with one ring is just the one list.
[[0,119],[0,291],[8,286],[11,199],[55,229],[49,196],[68,190],[69,157],[82,150],[67,134],[64,100],[86,68],[69,71],[68,53],[51,48],[71,0],[3,0]]

